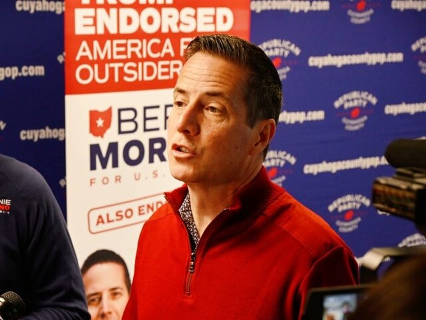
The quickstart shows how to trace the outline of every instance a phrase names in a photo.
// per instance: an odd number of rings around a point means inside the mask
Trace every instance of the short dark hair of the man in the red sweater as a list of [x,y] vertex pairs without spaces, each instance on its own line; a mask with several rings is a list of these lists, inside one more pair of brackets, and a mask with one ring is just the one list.
[[[271,59],[259,46],[236,36],[215,34],[195,37],[186,48],[185,61],[197,52],[247,68],[249,76],[244,86],[247,124],[253,127],[259,120],[266,119],[274,119],[278,124],[283,102],[282,83]],[[267,148],[264,155],[266,152]]]

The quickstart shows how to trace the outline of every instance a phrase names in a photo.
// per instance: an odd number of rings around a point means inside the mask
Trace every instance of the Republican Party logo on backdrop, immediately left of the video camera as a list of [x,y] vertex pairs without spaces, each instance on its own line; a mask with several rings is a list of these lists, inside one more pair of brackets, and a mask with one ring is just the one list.
[[347,194],[333,201],[328,210],[332,213],[331,219],[341,233],[352,232],[358,228],[361,216],[367,214],[370,199],[361,194]]

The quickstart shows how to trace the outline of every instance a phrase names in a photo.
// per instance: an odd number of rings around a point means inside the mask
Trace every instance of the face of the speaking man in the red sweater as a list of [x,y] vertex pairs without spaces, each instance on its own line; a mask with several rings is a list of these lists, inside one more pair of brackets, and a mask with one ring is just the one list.
[[204,188],[238,184],[259,163],[259,132],[246,120],[246,79],[241,66],[202,52],[184,64],[167,125],[174,178]]

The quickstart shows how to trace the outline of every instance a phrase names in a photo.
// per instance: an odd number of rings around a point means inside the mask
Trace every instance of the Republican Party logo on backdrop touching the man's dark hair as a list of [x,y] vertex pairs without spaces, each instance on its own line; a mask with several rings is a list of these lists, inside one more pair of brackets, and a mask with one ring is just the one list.
[[300,48],[289,40],[271,39],[262,42],[259,47],[272,60],[281,80],[287,78],[291,67],[297,64],[293,56],[300,55]]

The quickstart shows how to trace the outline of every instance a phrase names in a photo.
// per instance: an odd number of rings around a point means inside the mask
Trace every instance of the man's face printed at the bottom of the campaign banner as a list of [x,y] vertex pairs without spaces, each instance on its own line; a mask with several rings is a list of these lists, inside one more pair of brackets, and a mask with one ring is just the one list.
[[124,268],[107,262],[92,266],[83,276],[91,320],[120,320],[129,299]]

